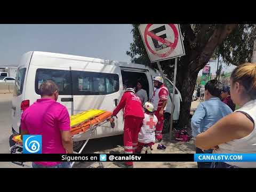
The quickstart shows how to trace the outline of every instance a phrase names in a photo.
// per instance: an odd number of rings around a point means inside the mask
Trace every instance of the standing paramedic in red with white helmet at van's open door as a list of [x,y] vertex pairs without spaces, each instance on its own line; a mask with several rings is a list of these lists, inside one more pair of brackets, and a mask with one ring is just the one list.
[[154,114],[158,119],[158,123],[156,125],[155,142],[160,142],[162,140],[164,111],[169,93],[166,86],[164,85],[164,79],[162,77],[154,78],[154,87],[156,87],[156,89],[151,99],[151,103],[154,105]]

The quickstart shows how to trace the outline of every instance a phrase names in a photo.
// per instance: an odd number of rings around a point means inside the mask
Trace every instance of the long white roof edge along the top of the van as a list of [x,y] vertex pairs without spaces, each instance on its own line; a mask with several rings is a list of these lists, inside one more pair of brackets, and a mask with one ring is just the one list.
[[61,54],[61,53],[50,53],[50,52],[41,52],[41,51],[34,51],[33,57],[36,55],[46,56],[46,57],[53,57],[53,58],[60,58],[60,59],[71,59],[71,60],[80,60],[80,61],[89,61],[89,62],[98,62],[105,65],[116,65],[119,67],[129,67],[129,68],[139,68],[139,69],[146,69],[145,65],[136,64],[136,63],[127,63],[122,61],[116,60],[105,60],[105,59],[98,59],[98,58],[90,58],[90,57],[82,57],[77,55],[69,55],[69,54]]

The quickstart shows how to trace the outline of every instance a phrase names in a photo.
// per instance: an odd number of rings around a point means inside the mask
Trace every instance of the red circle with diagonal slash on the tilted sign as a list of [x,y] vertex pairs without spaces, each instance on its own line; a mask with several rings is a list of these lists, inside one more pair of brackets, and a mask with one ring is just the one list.
[[[179,37],[179,34],[178,34],[178,30],[177,28],[175,27],[174,24],[168,24],[172,30],[173,30],[173,33],[174,33],[174,42],[171,43],[169,41],[167,41],[166,39],[163,39],[161,37],[158,37],[157,35],[151,33],[150,31],[148,31],[149,27],[151,27],[153,24],[148,24],[145,28],[145,32],[144,32],[144,38],[145,38],[145,44],[146,46],[148,47],[148,50],[153,53],[154,55],[157,55],[158,57],[167,57],[169,54],[171,54],[173,52],[173,50],[175,49],[175,47],[177,46],[178,44],[178,37]],[[149,46],[148,44],[148,39],[147,39],[147,35],[149,35],[150,37],[156,39],[157,41],[167,45],[168,47],[170,47],[170,50],[167,51],[166,53],[163,53],[163,54],[159,54],[157,53],[156,51],[152,50],[151,47]]]

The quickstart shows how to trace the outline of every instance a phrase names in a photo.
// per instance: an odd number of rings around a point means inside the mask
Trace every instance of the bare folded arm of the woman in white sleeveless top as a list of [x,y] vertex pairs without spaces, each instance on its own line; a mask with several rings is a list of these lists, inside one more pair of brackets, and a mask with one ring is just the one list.
[[232,113],[220,119],[196,137],[196,147],[207,150],[222,143],[241,139],[253,131],[253,123],[242,113]]

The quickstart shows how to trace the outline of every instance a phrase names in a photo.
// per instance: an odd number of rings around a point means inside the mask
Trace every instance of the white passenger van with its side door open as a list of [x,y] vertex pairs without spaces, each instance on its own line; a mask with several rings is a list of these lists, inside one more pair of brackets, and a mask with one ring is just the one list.
[[[47,79],[59,87],[58,102],[66,106],[70,115],[88,109],[113,111],[123,94],[123,82],[132,80],[134,86],[139,78],[146,82],[145,90],[149,98],[153,95],[153,78],[157,70],[145,65],[127,64],[75,55],[27,52],[18,66],[12,100],[12,132],[20,133],[22,108],[41,98],[38,88]],[[167,88],[172,93],[172,82],[167,79]],[[175,91],[174,121],[179,119],[181,94]],[[171,113],[170,98],[165,116]],[[169,115],[170,116],[170,115]],[[114,129],[110,125],[98,127],[92,138],[101,138],[123,133],[123,111],[117,115]],[[74,149],[81,147],[89,135],[84,134],[74,142]]]

